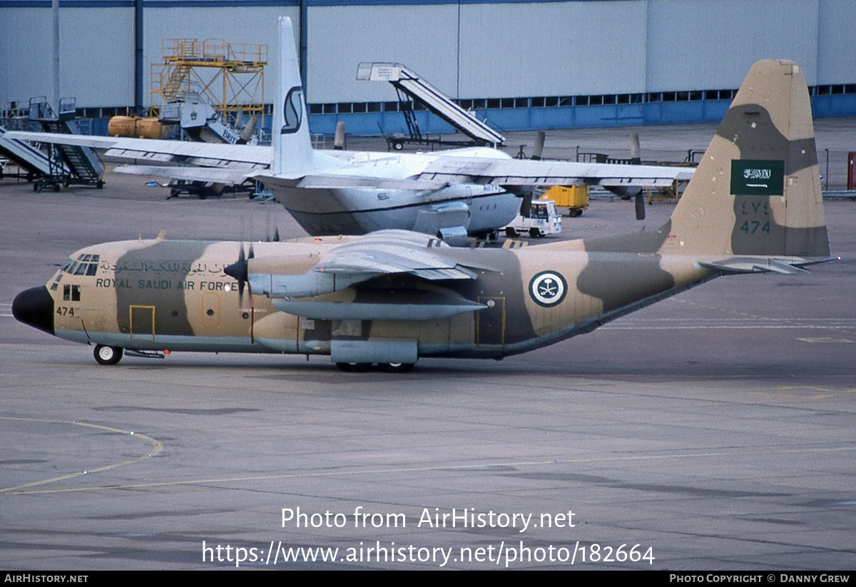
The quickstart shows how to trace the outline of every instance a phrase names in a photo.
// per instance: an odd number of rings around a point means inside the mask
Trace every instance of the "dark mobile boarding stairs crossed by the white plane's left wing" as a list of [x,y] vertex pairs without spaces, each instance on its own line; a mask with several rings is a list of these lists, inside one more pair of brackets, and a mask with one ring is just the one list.
[[[80,134],[80,127],[74,120],[75,111],[74,98],[60,100],[58,116],[44,96],[30,99],[30,120],[39,122],[47,133]],[[48,172],[36,181],[33,191],[52,188],[59,192],[60,186],[71,185],[104,187],[104,165],[89,147],[50,145],[48,161]]]

